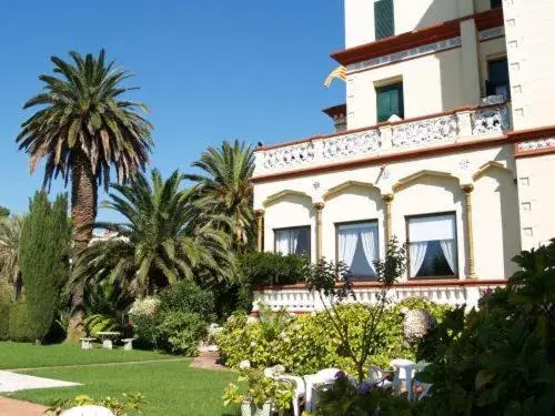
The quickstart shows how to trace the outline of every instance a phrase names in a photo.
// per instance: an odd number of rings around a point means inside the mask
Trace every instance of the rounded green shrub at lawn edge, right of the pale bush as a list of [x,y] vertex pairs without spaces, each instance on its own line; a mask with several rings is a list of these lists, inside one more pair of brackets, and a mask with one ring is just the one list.
[[158,347],[172,354],[194,356],[206,335],[206,321],[195,313],[167,313],[158,326]]

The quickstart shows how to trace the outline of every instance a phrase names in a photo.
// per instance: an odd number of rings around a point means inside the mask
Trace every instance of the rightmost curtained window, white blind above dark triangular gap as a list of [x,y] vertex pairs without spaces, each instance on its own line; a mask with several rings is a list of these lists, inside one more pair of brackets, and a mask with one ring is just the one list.
[[458,273],[455,214],[407,217],[411,277]]

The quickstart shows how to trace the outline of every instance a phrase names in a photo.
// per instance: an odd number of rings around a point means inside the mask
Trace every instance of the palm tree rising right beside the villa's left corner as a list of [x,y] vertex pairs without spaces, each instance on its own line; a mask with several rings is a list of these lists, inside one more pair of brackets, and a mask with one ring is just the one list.
[[195,205],[201,212],[222,215],[231,221],[228,227],[235,250],[242,250],[253,240],[251,177],[254,171],[252,148],[235,141],[224,141],[221,148],[209,148],[194,168],[203,174],[186,177],[196,182],[193,187]]

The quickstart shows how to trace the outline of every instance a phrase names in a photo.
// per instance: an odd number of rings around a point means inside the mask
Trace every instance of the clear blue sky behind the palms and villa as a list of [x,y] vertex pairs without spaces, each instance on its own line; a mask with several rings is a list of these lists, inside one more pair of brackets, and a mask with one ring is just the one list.
[[[30,175],[14,138],[50,55],[105,48],[137,74],[132,98],[154,124],[152,165],[168,174],[222,140],[331,132],[321,109],[344,102],[344,87],[322,83],[343,33],[342,0],[0,2],[0,205],[27,211],[42,183],[42,168]],[[62,190],[59,180],[51,192]]]

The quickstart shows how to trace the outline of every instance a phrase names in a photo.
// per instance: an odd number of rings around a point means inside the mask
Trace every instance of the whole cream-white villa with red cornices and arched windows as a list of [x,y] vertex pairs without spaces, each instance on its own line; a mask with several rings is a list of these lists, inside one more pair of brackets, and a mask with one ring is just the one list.
[[[259,250],[372,262],[408,244],[393,301],[475,305],[555,236],[555,1],[345,0],[333,134],[255,150]],[[310,312],[302,284],[255,298]]]

